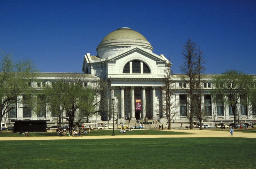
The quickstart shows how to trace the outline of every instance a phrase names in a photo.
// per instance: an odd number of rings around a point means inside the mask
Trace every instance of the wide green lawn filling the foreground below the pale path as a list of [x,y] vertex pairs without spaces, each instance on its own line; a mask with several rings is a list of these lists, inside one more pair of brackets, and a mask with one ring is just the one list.
[[255,168],[252,138],[0,141],[1,168]]

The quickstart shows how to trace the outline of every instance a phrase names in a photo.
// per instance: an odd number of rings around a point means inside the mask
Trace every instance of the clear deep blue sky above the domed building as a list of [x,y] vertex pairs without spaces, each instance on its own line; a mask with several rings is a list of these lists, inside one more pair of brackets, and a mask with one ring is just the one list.
[[256,74],[255,0],[0,0],[0,49],[29,58],[41,72],[82,72],[84,55],[120,27],[140,32],[180,73],[190,38],[205,73]]

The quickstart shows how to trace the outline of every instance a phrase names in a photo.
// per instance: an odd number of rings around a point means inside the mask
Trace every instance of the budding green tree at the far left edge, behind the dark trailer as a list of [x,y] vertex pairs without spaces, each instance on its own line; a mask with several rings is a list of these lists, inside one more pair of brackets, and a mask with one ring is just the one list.
[[[13,109],[22,105],[20,95],[31,95],[32,81],[37,72],[33,62],[28,59],[14,61],[12,54],[0,54],[0,121]],[[30,100],[30,103],[31,100]]]

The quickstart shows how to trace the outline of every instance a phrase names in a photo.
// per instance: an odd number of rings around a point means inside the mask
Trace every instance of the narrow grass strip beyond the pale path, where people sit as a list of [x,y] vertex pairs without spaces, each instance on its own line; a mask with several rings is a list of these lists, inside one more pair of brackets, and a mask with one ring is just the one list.
[[[88,131],[87,131],[88,132]],[[190,134],[190,133],[181,133],[174,131],[159,131],[159,130],[145,130],[137,129],[132,130],[132,132],[119,133],[119,130],[114,131],[116,135],[125,134],[125,135],[159,135],[159,134]],[[66,133],[66,132],[64,132]],[[82,134],[82,136],[95,136],[95,135],[112,135],[113,130],[91,130],[91,133]],[[52,132],[39,132],[39,133],[29,133],[29,137],[43,137],[43,136],[57,136],[55,131]],[[66,135],[64,135],[66,136]],[[12,133],[10,131],[0,132],[0,137],[25,137],[25,135],[20,135],[19,133]]]

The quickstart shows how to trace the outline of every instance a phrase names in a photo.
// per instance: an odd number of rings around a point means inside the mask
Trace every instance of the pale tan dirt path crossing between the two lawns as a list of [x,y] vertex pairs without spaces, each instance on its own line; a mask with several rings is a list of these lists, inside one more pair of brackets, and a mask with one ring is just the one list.
[[[51,136],[51,137],[0,137],[0,141],[9,140],[65,140],[65,139],[114,139],[114,138],[189,138],[189,137],[231,137],[229,131],[218,131],[218,130],[184,130],[184,129],[171,129],[167,131],[159,132],[184,132],[192,134],[177,134],[177,135],[125,135],[116,132],[115,136],[82,136],[82,137],[68,137],[66,135]],[[234,132],[232,137],[243,137],[243,138],[256,138],[254,133]]]

